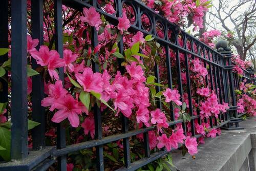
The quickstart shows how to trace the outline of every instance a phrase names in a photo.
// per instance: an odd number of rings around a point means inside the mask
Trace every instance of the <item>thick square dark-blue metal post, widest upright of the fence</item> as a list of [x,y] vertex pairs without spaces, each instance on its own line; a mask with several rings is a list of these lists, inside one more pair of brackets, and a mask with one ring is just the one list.
[[28,156],[27,1],[11,1],[11,158]]

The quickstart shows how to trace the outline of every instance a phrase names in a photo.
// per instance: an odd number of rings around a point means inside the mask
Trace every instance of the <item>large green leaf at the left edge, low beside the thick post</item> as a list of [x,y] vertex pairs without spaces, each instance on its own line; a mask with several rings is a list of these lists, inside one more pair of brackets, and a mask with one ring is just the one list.
[[0,156],[5,161],[11,160],[11,132],[9,129],[0,126],[0,145],[5,148],[5,150],[0,151]]

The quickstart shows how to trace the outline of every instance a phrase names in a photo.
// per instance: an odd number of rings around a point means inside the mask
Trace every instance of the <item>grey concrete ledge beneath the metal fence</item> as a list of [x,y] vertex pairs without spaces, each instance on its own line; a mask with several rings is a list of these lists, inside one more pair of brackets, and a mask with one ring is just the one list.
[[222,131],[214,139],[206,138],[193,159],[181,151],[172,153],[180,171],[256,171],[256,118],[240,122],[244,130]]

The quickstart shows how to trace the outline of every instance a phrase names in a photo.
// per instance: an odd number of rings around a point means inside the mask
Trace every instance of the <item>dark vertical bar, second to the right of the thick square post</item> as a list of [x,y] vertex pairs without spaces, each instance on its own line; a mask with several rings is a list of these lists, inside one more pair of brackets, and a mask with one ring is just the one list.
[[[55,49],[58,51],[60,58],[63,58],[63,40],[62,40],[62,1],[54,0],[54,30],[55,30]],[[63,68],[59,68],[59,78],[64,80]],[[63,122],[57,124],[57,148],[66,147],[66,129]],[[67,170],[66,156],[57,158],[58,170]]]

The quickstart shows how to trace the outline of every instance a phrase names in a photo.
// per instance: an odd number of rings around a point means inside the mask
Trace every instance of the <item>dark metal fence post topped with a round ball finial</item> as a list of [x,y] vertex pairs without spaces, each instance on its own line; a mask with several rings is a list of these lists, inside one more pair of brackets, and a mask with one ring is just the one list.
[[233,78],[233,65],[231,62],[231,57],[233,57],[233,52],[227,46],[227,42],[224,40],[219,40],[216,44],[217,51],[220,52],[223,56],[223,67],[224,67],[224,89],[227,91],[226,102],[229,104],[229,109],[227,110],[228,113],[228,120],[230,122],[223,126],[223,129],[226,130],[242,130],[243,127],[239,127],[239,122],[242,121],[241,118],[238,117],[238,106],[237,106],[237,99],[236,94],[234,93],[234,78]]

